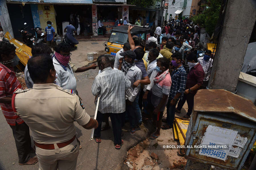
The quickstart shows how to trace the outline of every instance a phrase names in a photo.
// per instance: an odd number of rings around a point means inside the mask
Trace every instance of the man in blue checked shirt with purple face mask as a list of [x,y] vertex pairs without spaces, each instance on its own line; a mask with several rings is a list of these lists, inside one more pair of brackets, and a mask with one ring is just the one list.
[[171,74],[172,86],[170,89],[169,100],[166,105],[167,108],[167,124],[163,125],[162,129],[170,129],[173,127],[173,121],[175,118],[175,107],[179,98],[183,98],[183,94],[187,82],[187,72],[181,64],[182,55],[180,52],[176,52],[172,55],[172,65],[174,71]]

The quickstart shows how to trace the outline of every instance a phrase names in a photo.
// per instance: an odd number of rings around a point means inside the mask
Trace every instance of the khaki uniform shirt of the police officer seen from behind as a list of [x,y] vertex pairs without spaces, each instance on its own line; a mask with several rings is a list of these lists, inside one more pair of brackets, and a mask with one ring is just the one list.
[[34,84],[32,89],[18,89],[15,113],[26,122],[37,143],[61,143],[76,134],[74,120],[81,126],[90,121],[72,90],[50,84]]

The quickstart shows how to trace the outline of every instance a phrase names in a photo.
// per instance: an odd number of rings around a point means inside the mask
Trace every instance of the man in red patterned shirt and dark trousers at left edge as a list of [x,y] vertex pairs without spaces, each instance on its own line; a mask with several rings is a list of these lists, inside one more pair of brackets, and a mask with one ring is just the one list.
[[[12,95],[16,89],[22,89],[13,67],[18,65],[15,46],[9,42],[0,42],[0,105],[7,123],[13,130],[13,137],[20,165],[32,165],[38,162],[31,147],[28,125],[12,109]],[[33,158],[34,157],[34,158]]]

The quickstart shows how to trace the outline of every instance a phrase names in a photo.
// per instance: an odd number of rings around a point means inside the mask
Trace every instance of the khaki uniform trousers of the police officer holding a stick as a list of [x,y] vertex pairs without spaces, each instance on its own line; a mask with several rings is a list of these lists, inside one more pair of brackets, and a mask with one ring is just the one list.
[[[77,145],[76,149],[71,150]],[[59,148],[54,144],[54,150],[36,147],[39,170],[76,170],[79,154],[79,142],[75,139],[71,144]]]

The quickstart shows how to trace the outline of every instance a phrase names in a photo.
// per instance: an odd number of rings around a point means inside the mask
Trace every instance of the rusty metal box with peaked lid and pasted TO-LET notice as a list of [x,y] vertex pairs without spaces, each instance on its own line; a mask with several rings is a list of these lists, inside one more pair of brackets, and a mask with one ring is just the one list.
[[[194,98],[193,113],[186,134],[185,158],[226,169],[240,170],[256,140],[255,122],[256,107],[250,100],[223,89],[199,90]],[[233,134],[234,138],[229,138],[229,132],[236,133]],[[226,140],[232,143],[230,148],[220,152],[224,157],[210,156],[211,152],[207,154],[209,150],[205,154],[201,152],[202,148],[187,147],[202,145],[209,141],[206,134],[215,135],[216,138],[212,140]]]

